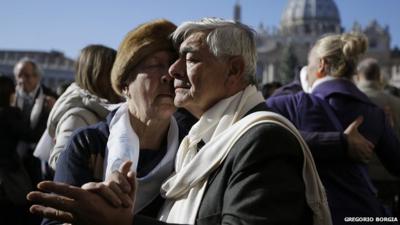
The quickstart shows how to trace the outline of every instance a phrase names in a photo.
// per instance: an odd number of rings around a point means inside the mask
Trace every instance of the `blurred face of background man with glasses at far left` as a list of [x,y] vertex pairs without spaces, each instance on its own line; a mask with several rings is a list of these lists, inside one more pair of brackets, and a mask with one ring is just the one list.
[[19,67],[18,74],[15,74],[15,81],[18,86],[23,88],[24,92],[30,93],[38,85],[39,75],[35,74],[31,63],[20,64]]

